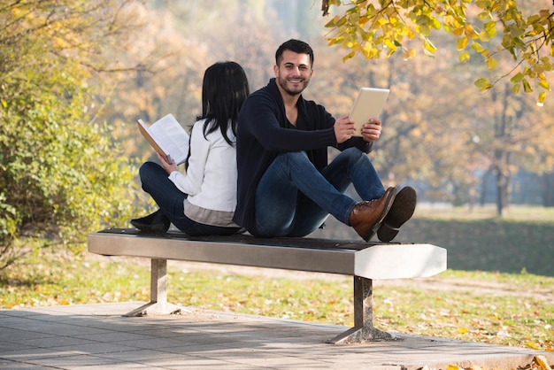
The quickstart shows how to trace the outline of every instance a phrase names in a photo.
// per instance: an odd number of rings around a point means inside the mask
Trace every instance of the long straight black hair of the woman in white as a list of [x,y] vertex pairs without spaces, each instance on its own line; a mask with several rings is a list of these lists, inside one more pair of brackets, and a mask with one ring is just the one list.
[[250,94],[246,73],[238,63],[217,62],[204,72],[202,83],[202,116],[204,137],[219,128],[225,141],[235,143],[227,136],[229,124],[236,135],[239,110]]

